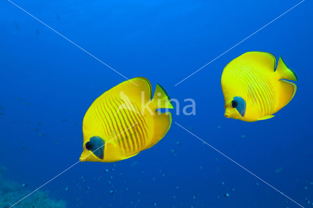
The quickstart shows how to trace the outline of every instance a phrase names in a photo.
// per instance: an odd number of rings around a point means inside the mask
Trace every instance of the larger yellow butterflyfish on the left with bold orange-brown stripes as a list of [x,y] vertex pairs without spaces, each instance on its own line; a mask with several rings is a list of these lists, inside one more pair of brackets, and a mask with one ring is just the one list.
[[89,107],[83,121],[83,153],[80,161],[115,162],[154,146],[171,126],[174,108],[166,91],[137,77],[103,93]]

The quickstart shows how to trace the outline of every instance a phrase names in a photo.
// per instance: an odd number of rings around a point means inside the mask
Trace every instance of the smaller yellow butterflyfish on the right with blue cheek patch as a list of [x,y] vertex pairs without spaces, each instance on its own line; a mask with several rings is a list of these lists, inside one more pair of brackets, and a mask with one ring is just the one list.
[[247,122],[274,117],[293,98],[298,81],[279,57],[266,52],[247,52],[229,62],[222,74],[226,118]]

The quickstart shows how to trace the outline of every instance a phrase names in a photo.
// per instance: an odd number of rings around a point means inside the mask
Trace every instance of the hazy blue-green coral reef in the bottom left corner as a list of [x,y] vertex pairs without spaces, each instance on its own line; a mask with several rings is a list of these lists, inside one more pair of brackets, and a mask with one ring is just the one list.
[[[9,208],[29,192],[23,185],[5,180],[3,172],[5,172],[5,168],[0,166],[0,208]],[[47,191],[36,191],[15,205],[14,208],[66,208],[66,202],[49,198]]]

